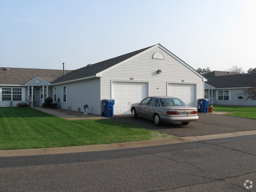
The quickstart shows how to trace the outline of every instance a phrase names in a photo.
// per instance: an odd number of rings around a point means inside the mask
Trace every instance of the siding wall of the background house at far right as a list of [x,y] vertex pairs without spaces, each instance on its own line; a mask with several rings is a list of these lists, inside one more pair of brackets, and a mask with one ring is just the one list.
[[[215,89],[215,97],[218,98],[218,91],[221,90],[229,90],[230,91],[230,101],[218,101],[216,99],[215,104],[219,105],[244,105],[244,106],[256,106],[256,101],[247,100],[245,101],[246,97],[239,93],[243,92],[243,89]],[[238,99],[238,96],[242,96],[243,99]]]

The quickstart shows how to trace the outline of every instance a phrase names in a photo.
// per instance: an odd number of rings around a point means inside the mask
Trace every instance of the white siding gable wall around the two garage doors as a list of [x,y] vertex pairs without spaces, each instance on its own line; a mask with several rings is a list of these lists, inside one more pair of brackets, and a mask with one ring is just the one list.
[[[161,52],[164,60],[152,59],[155,52]],[[161,74],[157,73],[159,69]],[[104,73],[101,80],[101,99],[112,98],[111,80],[149,82],[149,96],[166,96],[167,83],[196,84],[196,98],[204,97],[202,78],[159,47]]]

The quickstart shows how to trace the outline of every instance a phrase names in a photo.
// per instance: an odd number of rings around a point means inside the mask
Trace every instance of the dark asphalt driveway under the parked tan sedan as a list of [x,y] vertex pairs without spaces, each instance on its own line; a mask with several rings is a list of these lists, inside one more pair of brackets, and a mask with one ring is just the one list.
[[256,119],[246,119],[211,113],[199,113],[198,116],[199,120],[190,122],[189,125],[181,125],[181,123],[164,123],[159,127],[155,126],[153,120],[151,121],[142,117],[133,119],[131,115],[125,115],[110,118],[179,137],[256,130]]

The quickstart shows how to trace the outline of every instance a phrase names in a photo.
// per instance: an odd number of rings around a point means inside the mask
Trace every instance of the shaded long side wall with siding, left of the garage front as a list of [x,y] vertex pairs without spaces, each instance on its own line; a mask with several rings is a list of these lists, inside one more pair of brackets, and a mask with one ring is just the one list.
[[[63,86],[67,86],[67,102],[63,102]],[[52,98],[54,87],[57,87],[57,101],[60,99],[57,102],[59,108],[67,109],[67,106],[71,106],[71,110],[76,111],[77,107],[80,107],[80,112],[84,112],[84,105],[87,104],[89,113],[98,115],[101,113],[100,78],[52,85]]]

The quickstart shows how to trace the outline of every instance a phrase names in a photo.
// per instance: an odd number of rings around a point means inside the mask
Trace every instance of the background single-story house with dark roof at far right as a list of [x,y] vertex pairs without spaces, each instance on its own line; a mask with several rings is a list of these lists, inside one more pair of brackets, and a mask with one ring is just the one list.
[[204,98],[209,98],[210,103],[220,105],[255,106],[256,101],[247,100],[242,95],[243,89],[250,88],[256,80],[256,73],[235,73],[227,71],[212,71],[204,75]]

